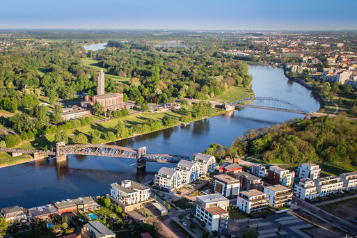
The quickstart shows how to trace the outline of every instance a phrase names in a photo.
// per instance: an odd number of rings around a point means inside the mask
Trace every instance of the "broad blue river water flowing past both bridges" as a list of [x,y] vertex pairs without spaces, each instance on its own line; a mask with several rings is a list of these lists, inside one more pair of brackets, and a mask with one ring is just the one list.
[[[251,66],[252,87],[257,96],[279,97],[317,111],[319,103],[311,92],[288,81],[283,70]],[[148,153],[192,156],[210,143],[230,145],[248,129],[267,127],[303,115],[283,111],[245,108],[222,116],[193,122],[188,127],[173,127],[116,142],[130,148],[148,147]],[[56,200],[109,193],[112,182],[130,179],[150,180],[161,166],[174,164],[147,163],[146,173],[136,173],[135,159],[68,155],[64,164],[56,161],[35,161],[0,168],[0,207],[19,205],[35,207]]]

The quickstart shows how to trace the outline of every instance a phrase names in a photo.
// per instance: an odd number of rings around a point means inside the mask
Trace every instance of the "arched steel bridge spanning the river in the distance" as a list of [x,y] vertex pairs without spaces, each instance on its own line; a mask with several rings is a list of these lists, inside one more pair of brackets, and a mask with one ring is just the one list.
[[[253,105],[251,103],[253,102],[269,102],[269,104],[273,105]],[[253,108],[258,108],[258,109],[269,109],[269,110],[275,110],[275,111],[288,111],[292,113],[301,113],[301,114],[307,114],[309,111],[306,109],[303,109],[301,106],[298,106],[296,104],[293,104],[292,102],[289,102],[287,100],[283,100],[277,97],[247,97],[242,100],[238,100],[236,102],[230,103],[231,106],[247,106],[247,107],[253,107]]]

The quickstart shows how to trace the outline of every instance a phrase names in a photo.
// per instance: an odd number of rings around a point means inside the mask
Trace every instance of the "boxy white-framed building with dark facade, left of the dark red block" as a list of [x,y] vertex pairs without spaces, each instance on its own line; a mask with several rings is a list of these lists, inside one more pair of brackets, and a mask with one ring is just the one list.
[[238,196],[240,181],[230,175],[215,175],[214,177],[214,191],[220,193],[226,198]]

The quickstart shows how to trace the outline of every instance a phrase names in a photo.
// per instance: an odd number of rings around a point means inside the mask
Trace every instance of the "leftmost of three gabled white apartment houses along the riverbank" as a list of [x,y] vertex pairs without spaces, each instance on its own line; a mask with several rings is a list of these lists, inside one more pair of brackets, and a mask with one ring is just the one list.
[[162,167],[155,175],[154,184],[162,191],[169,193],[182,186],[182,174],[179,170]]

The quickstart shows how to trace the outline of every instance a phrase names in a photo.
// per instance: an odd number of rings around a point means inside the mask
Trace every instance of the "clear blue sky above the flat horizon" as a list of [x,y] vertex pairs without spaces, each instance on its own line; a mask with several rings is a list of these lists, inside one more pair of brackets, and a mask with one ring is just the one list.
[[357,29],[357,0],[3,0],[0,29]]

